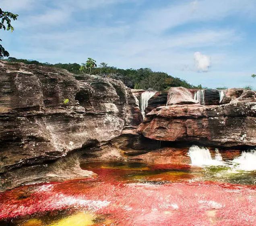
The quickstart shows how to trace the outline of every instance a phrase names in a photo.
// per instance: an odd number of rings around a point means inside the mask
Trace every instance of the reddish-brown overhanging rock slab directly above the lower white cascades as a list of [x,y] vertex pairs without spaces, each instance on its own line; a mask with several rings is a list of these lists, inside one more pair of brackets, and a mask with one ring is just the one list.
[[159,107],[146,115],[137,132],[155,140],[256,146],[255,105],[237,102],[220,106]]

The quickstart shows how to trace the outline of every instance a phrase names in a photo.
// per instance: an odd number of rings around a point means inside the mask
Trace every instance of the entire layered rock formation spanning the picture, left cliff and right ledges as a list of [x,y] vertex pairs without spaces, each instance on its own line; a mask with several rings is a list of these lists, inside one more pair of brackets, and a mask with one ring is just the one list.
[[[81,170],[81,159],[164,163],[167,158],[175,164],[173,158],[186,153],[190,142],[256,146],[254,91],[224,90],[219,103],[219,91],[205,90],[205,103],[216,104],[209,106],[194,100],[196,90],[154,91],[142,122],[138,100],[144,90],[131,90],[123,80],[0,61],[1,189],[95,177]],[[183,147],[173,145],[177,141]]]

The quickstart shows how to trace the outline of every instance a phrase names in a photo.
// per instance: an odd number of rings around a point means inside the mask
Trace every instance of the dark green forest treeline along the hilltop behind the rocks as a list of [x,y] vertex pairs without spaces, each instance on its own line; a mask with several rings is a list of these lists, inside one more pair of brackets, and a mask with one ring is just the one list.
[[[56,67],[61,69],[66,69],[71,73],[74,74],[81,74],[83,73],[80,69],[81,65],[78,63],[40,63],[39,61],[35,60],[27,60],[27,59],[16,59],[14,57],[9,57],[6,59],[10,62],[21,62],[26,64],[35,64],[35,65],[42,65],[42,66],[50,66]],[[134,89],[144,89],[147,90],[152,88],[154,90],[167,90],[169,87],[178,87],[182,86],[185,88],[197,88],[202,89],[201,85],[193,86],[192,84],[188,83],[184,79],[180,79],[178,77],[173,77],[168,75],[165,72],[160,71],[152,71],[150,68],[140,68],[140,69],[121,69],[113,66],[107,65],[107,63],[101,63],[99,67],[93,68],[92,74],[98,75],[107,75],[107,74],[118,74],[124,77],[127,81],[126,84],[130,88]]]

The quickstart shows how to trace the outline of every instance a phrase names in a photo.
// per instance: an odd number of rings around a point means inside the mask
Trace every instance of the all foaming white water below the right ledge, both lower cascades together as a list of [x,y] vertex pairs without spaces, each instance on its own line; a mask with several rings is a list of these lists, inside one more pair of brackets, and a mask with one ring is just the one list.
[[256,170],[256,150],[242,152],[241,156],[233,159],[233,161],[225,162],[222,159],[221,153],[215,149],[215,158],[211,157],[209,149],[193,145],[188,151],[188,156],[191,159],[191,165],[194,166],[218,166],[225,165],[232,170],[229,173],[237,173],[237,171],[254,171]]

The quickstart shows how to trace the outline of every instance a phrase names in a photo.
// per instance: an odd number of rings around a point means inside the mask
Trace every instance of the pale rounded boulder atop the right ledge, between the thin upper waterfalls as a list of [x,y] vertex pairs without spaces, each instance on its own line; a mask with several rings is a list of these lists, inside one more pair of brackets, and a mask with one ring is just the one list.
[[172,87],[168,90],[167,105],[172,104],[198,104],[191,92],[184,87]]

